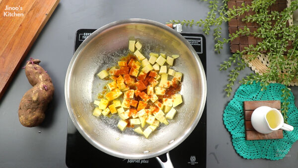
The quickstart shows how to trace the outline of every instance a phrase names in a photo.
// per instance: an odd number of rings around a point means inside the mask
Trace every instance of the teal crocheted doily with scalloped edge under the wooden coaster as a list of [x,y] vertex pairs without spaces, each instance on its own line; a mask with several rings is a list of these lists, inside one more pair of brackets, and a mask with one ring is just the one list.
[[224,125],[232,135],[232,143],[236,152],[246,159],[283,159],[289,152],[292,144],[298,140],[298,109],[294,104],[294,95],[288,99],[288,123],[294,131],[284,131],[283,139],[275,140],[245,140],[243,101],[253,100],[281,100],[283,102],[283,84],[270,84],[261,91],[259,84],[242,84],[237,89],[234,98],[224,110]]

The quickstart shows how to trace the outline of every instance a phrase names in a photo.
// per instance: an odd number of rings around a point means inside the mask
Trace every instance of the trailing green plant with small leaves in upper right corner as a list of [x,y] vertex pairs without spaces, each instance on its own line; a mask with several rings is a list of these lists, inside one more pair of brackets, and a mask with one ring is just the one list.
[[[213,36],[216,42],[215,51],[220,53],[225,43],[239,37],[240,35],[250,35],[258,38],[262,38],[263,41],[256,45],[249,45],[245,47],[243,51],[237,51],[228,60],[221,64],[220,70],[228,70],[233,65],[233,69],[229,72],[228,84],[224,89],[227,96],[232,91],[232,86],[237,81],[239,72],[247,67],[247,63],[244,61],[243,55],[248,55],[248,60],[252,61],[260,55],[261,52],[266,51],[269,59],[268,71],[262,74],[250,74],[239,81],[242,84],[252,84],[253,82],[259,82],[262,89],[266,89],[266,86],[271,82],[277,82],[289,86],[292,82],[298,80],[298,26],[287,26],[288,20],[292,19],[293,11],[298,8],[298,0],[291,2],[290,6],[281,12],[271,11],[267,9],[276,0],[253,0],[251,5],[245,5],[227,9],[227,2],[229,0],[222,0],[221,4],[219,0],[204,0],[209,2],[210,11],[207,13],[205,20],[170,20],[170,23],[181,23],[188,26],[203,26],[205,34],[209,35],[213,28]],[[239,29],[236,33],[230,34],[228,38],[222,37],[221,26],[223,23],[229,21],[236,16],[240,16],[248,11],[253,11],[255,14],[246,15],[242,21],[256,22],[259,24],[257,31],[250,31],[248,27],[244,26],[243,29]],[[275,24],[272,24],[272,20]],[[289,41],[292,41],[293,48],[287,50]],[[288,102],[287,99],[290,96],[290,88],[285,88],[283,92],[282,113],[285,116],[287,122]]]

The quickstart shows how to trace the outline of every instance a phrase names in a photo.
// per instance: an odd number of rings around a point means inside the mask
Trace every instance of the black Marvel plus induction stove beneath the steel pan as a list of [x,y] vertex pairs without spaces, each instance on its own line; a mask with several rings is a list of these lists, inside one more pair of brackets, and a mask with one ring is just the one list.
[[[75,34],[74,52],[96,29],[79,29]],[[206,73],[206,39],[199,33],[180,33],[194,47]],[[175,168],[206,167],[206,104],[202,117],[193,132],[180,145],[169,152]],[[76,130],[68,117],[66,165],[69,168],[160,168],[155,158],[129,160],[113,157],[88,143]],[[165,162],[166,156],[159,158]]]

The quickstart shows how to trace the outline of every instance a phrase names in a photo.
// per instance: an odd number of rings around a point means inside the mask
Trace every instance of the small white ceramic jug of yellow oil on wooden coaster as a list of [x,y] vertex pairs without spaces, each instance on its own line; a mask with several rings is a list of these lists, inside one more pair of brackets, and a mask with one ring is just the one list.
[[284,123],[284,117],[279,110],[268,106],[258,107],[252,112],[251,124],[256,131],[263,134],[269,134],[278,129],[294,130],[293,126]]

